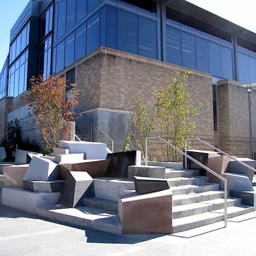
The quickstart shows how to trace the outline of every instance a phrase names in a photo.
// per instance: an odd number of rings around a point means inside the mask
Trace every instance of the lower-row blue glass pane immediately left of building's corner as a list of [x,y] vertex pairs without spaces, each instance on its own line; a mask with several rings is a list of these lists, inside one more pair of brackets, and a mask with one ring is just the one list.
[[99,47],[99,12],[87,20],[86,53]]

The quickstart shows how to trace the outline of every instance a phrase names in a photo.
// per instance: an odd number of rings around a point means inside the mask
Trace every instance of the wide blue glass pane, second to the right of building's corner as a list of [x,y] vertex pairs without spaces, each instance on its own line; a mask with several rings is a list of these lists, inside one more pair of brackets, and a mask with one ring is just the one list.
[[138,53],[138,17],[117,10],[117,49]]

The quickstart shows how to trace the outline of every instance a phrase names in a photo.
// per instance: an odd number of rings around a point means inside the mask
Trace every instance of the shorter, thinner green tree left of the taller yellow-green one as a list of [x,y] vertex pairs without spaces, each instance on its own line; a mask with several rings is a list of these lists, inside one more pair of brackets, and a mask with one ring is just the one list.
[[[140,93],[134,97],[134,107],[131,115],[124,120],[129,134],[136,143],[137,150],[141,151],[145,159],[145,140],[154,131],[154,114],[147,110]],[[151,159],[150,143],[148,143],[149,158]]]

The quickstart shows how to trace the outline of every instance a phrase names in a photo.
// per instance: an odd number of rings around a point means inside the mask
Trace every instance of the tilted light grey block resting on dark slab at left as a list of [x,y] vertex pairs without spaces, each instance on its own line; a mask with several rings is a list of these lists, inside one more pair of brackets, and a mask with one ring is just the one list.
[[34,156],[23,180],[59,180],[58,164],[41,157]]

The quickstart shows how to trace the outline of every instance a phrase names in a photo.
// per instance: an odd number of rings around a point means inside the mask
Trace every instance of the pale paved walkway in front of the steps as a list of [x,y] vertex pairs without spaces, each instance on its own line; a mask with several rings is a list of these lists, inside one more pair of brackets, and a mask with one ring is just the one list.
[[80,230],[0,204],[0,256],[256,255],[256,212],[174,235],[117,236]]

